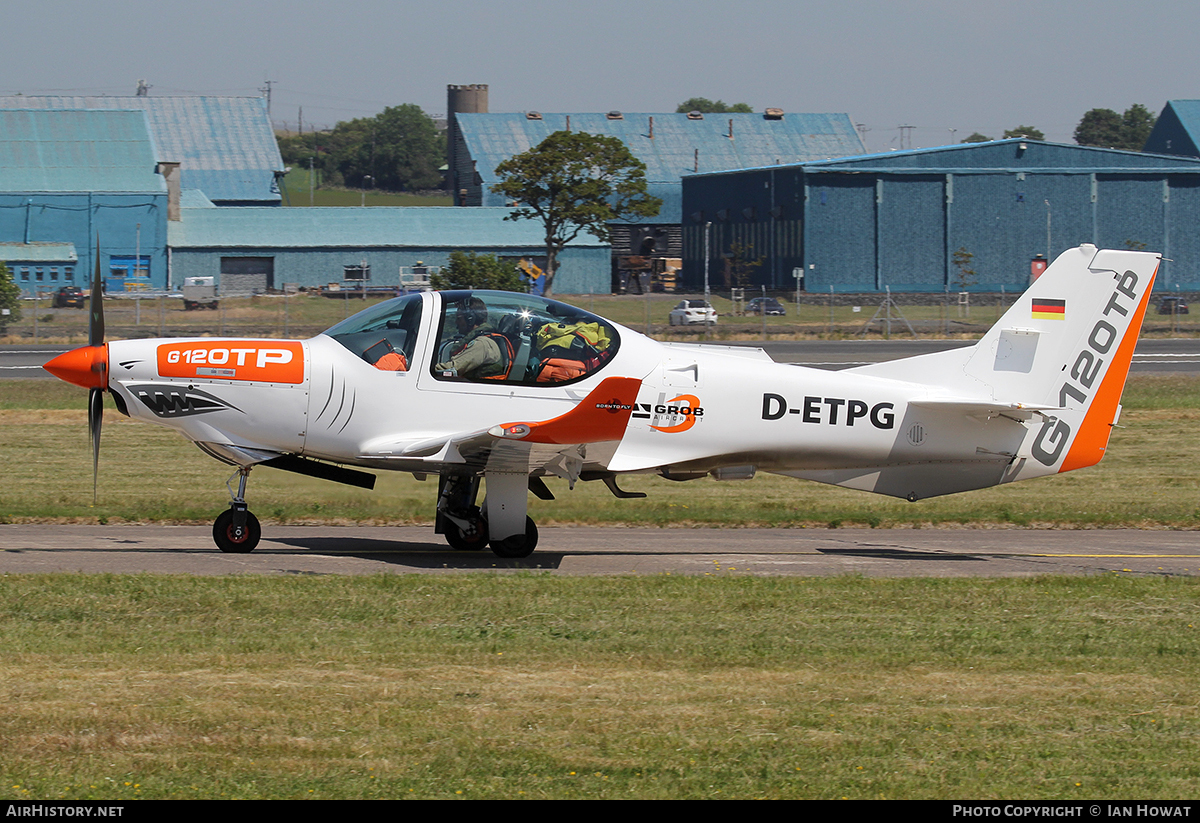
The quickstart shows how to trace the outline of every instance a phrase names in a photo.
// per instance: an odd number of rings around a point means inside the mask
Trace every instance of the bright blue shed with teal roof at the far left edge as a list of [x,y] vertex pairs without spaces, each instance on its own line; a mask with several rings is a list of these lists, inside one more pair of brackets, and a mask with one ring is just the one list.
[[0,109],[0,260],[25,294],[167,280],[167,181],[143,112]]

